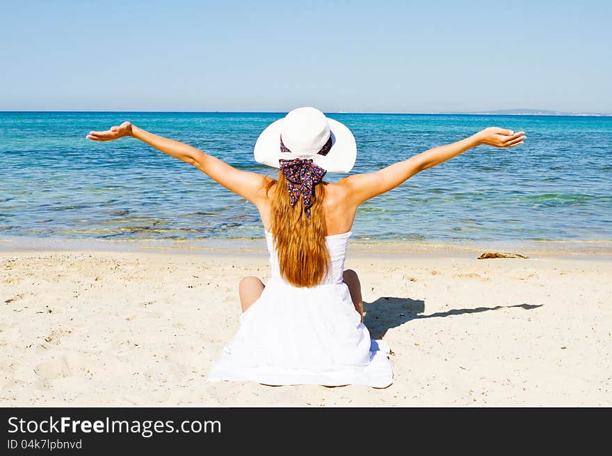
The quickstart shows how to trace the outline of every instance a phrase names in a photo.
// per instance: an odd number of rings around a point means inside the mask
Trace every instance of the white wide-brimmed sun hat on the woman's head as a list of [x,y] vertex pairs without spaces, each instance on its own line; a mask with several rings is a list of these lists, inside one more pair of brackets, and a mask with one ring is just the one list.
[[297,108],[259,135],[255,161],[280,168],[278,160],[311,158],[330,173],[348,173],[357,158],[353,133],[315,108]]

